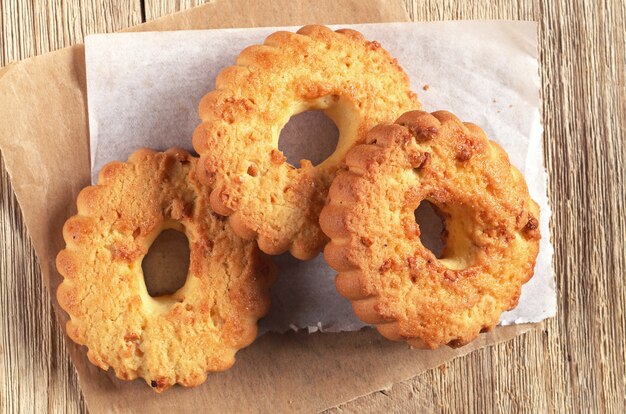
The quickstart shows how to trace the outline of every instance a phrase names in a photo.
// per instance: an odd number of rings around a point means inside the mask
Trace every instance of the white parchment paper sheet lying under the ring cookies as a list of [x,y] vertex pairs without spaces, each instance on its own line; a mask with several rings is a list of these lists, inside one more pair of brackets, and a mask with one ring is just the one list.
[[[553,316],[556,293],[543,164],[536,24],[452,21],[349,27],[379,41],[398,59],[425,110],[446,109],[478,124],[504,147],[524,174],[531,196],[541,206],[541,248],[535,276],[524,285],[518,307],[503,314],[501,323],[538,322]],[[104,164],[126,160],[139,147],[192,150],[192,132],[199,123],[197,105],[214,89],[219,71],[233,65],[245,47],[262,43],[279,29],[295,31],[298,27],[88,36],[92,179],[95,181]],[[297,122],[305,124],[319,119],[298,118]],[[284,132],[314,128],[288,128]],[[301,149],[303,142],[311,142],[300,139],[285,138],[293,146],[285,148],[288,156],[290,150]],[[314,156],[310,154],[314,150],[308,149],[309,156]],[[261,332],[301,328],[336,332],[364,326],[353,315],[350,303],[335,290],[335,272],[321,255],[309,262],[289,255],[275,261],[279,279],[272,289],[270,314],[261,321]]]

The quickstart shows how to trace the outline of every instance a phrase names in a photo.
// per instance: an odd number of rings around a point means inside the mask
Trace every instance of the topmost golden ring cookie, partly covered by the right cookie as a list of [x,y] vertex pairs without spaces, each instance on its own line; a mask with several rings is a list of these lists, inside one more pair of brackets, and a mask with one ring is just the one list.
[[[374,125],[419,107],[396,60],[360,33],[324,26],[274,33],[245,49],[200,103],[193,145],[200,175],[215,182],[211,205],[264,252],[310,259],[327,240],[319,212],[346,152]],[[302,160],[296,168],[278,149],[279,134],[309,109],[335,122],[339,142],[321,164]]]

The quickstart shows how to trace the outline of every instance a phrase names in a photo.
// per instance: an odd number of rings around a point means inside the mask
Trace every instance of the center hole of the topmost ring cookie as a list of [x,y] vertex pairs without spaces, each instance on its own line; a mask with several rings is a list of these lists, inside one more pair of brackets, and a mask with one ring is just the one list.
[[291,117],[280,132],[278,149],[293,166],[303,159],[318,165],[335,152],[338,141],[337,125],[324,112],[310,110]]

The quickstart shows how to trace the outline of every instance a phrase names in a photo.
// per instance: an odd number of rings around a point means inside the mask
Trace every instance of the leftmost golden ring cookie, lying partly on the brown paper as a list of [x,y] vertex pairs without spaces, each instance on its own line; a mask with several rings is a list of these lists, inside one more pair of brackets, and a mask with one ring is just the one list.
[[[68,336],[93,364],[158,392],[228,369],[270,304],[273,266],[213,213],[196,163],[184,150],[142,149],[106,165],[79,194],[57,256]],[[153,298],[141,262],[165,229],[189,239],[189,274],[178,291]]]

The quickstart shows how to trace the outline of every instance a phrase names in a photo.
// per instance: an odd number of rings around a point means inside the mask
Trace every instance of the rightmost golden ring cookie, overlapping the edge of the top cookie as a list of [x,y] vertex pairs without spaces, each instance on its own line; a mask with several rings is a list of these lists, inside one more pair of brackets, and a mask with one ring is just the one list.
[[[517,305],[539,250],[539,207],[502,148],[449,112],[377,126],[346,157],[320,224],[357,316],[416,347],[462,346]],[[440,259],[420,242],[423,200],[444,220]]]

